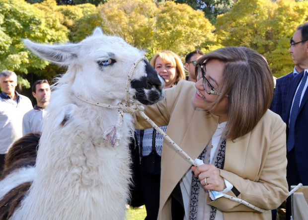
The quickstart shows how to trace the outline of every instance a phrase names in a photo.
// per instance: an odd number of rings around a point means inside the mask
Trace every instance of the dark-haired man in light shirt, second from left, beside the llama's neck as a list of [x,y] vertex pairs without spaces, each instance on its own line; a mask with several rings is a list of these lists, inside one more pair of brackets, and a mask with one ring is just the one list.
[[23,116],[22,134],[42,131],[42,119],[46,114],[45,107],[49,104],[51,90],[46,79],[37,80],[32,85],[32,95],[37,104]]

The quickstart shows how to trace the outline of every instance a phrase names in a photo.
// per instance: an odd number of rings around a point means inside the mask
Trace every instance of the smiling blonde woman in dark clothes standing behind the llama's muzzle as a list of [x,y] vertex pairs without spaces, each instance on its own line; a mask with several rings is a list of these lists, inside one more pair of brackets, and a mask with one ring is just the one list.
[[[165,87],[175,86],[185,79],[181,59],[172,51],[161,51],[154,54],[150,64],[165,80]],[[160,127],[166,131],[167,125]],[[156,220],[159,207],[160,159],[163,137],[153,128],[137,131],[141,149],[140,181],[145,202],[146,220]]]

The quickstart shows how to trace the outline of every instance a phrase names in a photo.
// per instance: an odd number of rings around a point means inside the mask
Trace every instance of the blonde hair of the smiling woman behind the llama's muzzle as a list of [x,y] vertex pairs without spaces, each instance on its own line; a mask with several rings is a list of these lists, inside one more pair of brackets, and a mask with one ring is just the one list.
[[150,61],[150,64],[153,68],[155,68],[155,62],[156,62],[157,57],[160,57],[160,59],[163,62],[170,61],[171,65],[175,67],[176,73],[177,73],[175,84],[177,84],[179,80],[185,79],[185,71],[184,71],[183,63],[181,59],[179,58],[179,56],[177,56],[172,51],[168,51],[168,50],[157,52],[154,54],[153,58]]

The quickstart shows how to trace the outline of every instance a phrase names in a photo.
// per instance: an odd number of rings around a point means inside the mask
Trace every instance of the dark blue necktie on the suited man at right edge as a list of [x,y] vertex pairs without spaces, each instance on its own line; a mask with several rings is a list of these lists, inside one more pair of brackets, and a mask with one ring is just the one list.
[[292,110],[291,110],[291,115],[290,115],[290,125],[289,125],[289,134],[288,134],[288,141],[287,141],[287,149],[288,152],[290,152],[293,147],[294,147],[294,128],[295,128],[295,121],[296,118],[298,116],[299,113],[299,108],[300,108],[300,101],[301,101],[301,96],[303,93],[303,89],[305,86],[305,83],[307,81],[307,72],[305,72],[304,77],[302,79],[302,82],[300,84],[300,87],[298,89],[298,91],[295,94],[294,97],[294,102],[293,102],[293,106],[292,106]]

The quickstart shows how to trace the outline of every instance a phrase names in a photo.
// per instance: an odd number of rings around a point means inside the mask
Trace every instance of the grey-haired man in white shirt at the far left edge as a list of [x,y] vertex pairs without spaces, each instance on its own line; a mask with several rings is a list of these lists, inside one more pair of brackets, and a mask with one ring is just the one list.
[[22,118],[32,108],[30,99],[15,88],[17,75],[12,71],[0,72],[0,171],[8,148],[22,137]]

